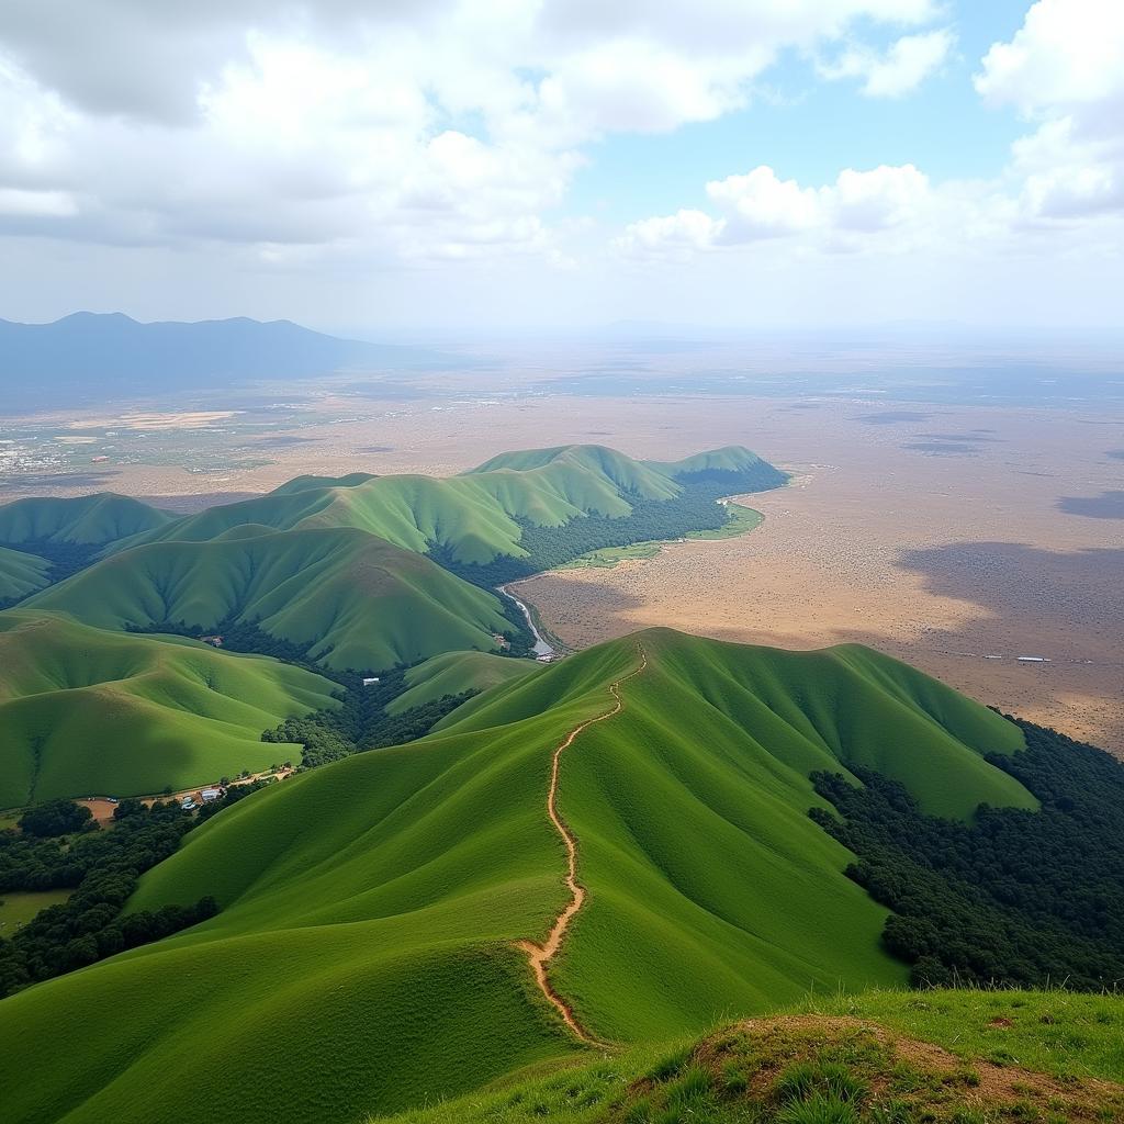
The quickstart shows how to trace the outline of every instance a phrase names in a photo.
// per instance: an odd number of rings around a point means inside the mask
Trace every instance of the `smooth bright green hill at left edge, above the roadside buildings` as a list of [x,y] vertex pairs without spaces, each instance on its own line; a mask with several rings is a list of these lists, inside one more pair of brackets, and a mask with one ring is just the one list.
[[0,614],[0,807],[160,792],[298,754],[263,729],[333,706],[334,685],[178,637]]

